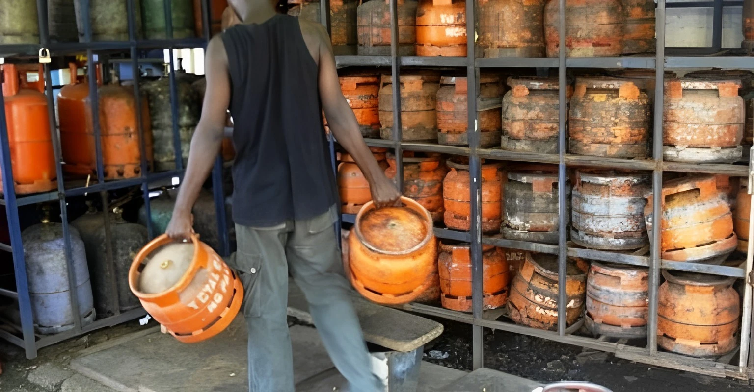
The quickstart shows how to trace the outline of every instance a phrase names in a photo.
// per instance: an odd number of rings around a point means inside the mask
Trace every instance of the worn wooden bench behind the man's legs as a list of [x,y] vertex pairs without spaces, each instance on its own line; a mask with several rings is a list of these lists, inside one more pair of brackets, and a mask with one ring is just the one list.
[[[372,352],[372,371],[389,392],[416,390],[424,345],[443,333],[443,325],[405,311],[377,305],[353,292],[354,308],[366,342],[385,350]],[[314,324],[304,293],[288,282],[288,315]]]

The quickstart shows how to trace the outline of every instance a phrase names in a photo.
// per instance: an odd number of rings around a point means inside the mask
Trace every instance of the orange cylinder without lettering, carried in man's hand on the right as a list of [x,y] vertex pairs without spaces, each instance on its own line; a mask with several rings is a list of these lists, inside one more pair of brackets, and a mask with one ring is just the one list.
[[366,299],[385,305],[414,301],[437,269],[432,217],[412,199],[403,207],[366,203],[348,236],[351,284]]

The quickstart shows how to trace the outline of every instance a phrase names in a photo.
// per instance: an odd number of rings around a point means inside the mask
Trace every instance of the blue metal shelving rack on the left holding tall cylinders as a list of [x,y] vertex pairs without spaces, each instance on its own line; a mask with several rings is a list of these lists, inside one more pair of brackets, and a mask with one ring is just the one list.
[[[107,210],[106,206],[109,205],[108,191],[121,190],[128,187],[141,187],[143,193],[144,203],[146,205],[146,212],[148,216],[151,216],[149,208],[149,188],[150,184],[163,183],[170,180],[170,178],[182,178],[184,173],[182,154],[179,153],[180,149],[180,137],[178,132],[178,111],[177,111],[177,93],[176,93],[176,79],[175,70],[173,69],[173,49],[185,48],[185,47],[206,47],[207,42],[210,39],[210,7],[208,0],[201,2],[202,15],[204,20],[204,35],[202,38],[188,38],[188,39],[173,39],[173,20],[170,17],[171,2],[170,0],[164,1],[165,23],[166,23],[166,36],[167,39],[161,40],[142,40],[138,38],[136,32],[136,13],[140,12],[137,8],[135,0],[127,0],[128,11],[128,41],[92,41],[92,26],[90,23],[89,5],[90,0],[81,0],[82,8],[84,9],[84,31],[85,41],[75,43],[52,43],[50,41],[50,35],[48,32],[48,1],[36,0],[38,8],[38,24],[39,24],[39,44],[0,44],[0,57],[4,58],[18,58],[18,59],[32,59],[40,54],[40,50],[47,49],[50,51],[51,56],[65,56],[75,53],[86,53],[87,59],[92,65],[97,62],[97,53],[106,52],[121,52],[130,53],[130,62],[133,71],[133,93],[136,96],[136,107],[139,108],[142,99],[139,93],[139,50],[145,49],[169,49],[170,51],[170,104],[173,114],[173,147],[176,152],[176,169],[168,172],[149,173],[149,163],[146,160],[146,145],[143,137],[144,129],[142,129],[141,111],[136,110],[137,122],[139,123],[139,138],[141,145],[141,177],[129,178],[124,180],[105,181],[103,178],[103,156],[102,156],[102,144],[101,144],[101,132],[99,110],[99,99],[97,99],[97,79],[96,74],[93,71],[89,72],[89,87],[90,99],[92,105],[93,126],[94,126],[94,138],[95,147],[97,153],[97,178],[92,181],[91,184],[86,184],[85,181],[64,181],[62,158],[60,150],[60,139],[57,135],[57,126],[55,119],[55,106],[54,95],[52,91],[51,81],[51,68],[50,64],[44,64],[44,78],[47,83],[45,84],[45,94],[48,99],[48,115],[51,119],[50,132],[54,144],[55,159],[57,161],[57,190],[36,193],[32,195],[20,196],[15,193],[13,170],[11,168],[11,151],[8,140],[8,130],[5,123],[5,105],[2,95],[0,95],[0,162],[2,162],[2,184],[5,194],[0,199],[0,204],[5,205],[5,212],[8,215],[8,230],[11,236],[11,245],[0,245],[2,251],[11,251],[13,255],[16,290],[0,289],[0,296],[7,296],[12,299],[16,299],[19,305],[20,313],[20,336],[16,333],[8,332],[7,330],[0,330],[0,337],[7,339],[9,342],[14,343],[20,347],[25,348],[26,357],[29,359],[37,356],[39,348],[46,347],[48,345],[54,345],[57,342],[61,342],[66,339],[70,339],[75,336],[89,333],[93,330],[98,330],[103,327],[112,327],[116,324],[121,324],[124,321],[133,320],[134,318],[142,317],[146,314],[143,308],[136,308],[130,311],[119,312],[115,311],[115,315],[108,318],[101,318],[86,326],[82,325],[81,317],[74,318],[74,327],[71,330],[67,330],[62,333],[49,336],[39,336],[35,334],[34,320],[32,316],[32,305],[29,296],[29,281],[26,275],[26,263],[24,261],[23,244],[21,242],[21,231],[19,223],[18,207],[23,205],[32,205],[41,202],[53,202],[58,200],[60,202],[61,220],[63,222],[63,240],[66,246],[66,268],[69,276],[69,301],[74,315],[79,315],[78,298],[75,290],[75,279],[73,272],[73,260],[71,255],[71,238],[68,224],[68,214],[66,209],[66,200],[73,196],[82,196],[87,193],[100,193],[100,197],[103,202],[103,207]],[[93,67],[90,66],[91,69]],[[229,253],[228,245],[228,229],[225,222],[225,202],[222,192],[222,158],[218,156],[215,163],[213,172],[213,196],[216,205],[217,223],[219,238],[221,239],[221,249],[219,253],[223,256]],[[112,260],[112,234],[111,234],[111,222],[109,214],[103,214],[104,216],[104,229],[106,232],[106,254],[109,263],[107,268],[110,272],[115,268],[115,264]],[[149,231],[149,238],[154,237],[154,230],[152,228],[152,221],[147,220],[147,226]],[[110,274],[113,281],[111,287],[113,287],[110,296],[111,299],[115,299],[117,303],[118,293],[115,289],[115,274]],[[123,282],[121,282],[123,284]],[[116,307],[117,308],[117,307]]]

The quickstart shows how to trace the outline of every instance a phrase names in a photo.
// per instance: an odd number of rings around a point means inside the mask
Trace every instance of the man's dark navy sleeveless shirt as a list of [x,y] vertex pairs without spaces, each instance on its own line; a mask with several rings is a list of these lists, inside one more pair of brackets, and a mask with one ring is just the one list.
[[318,67],[296,17],[222,34],[233,116],[233,219],[274,226],[325,213],[337,190],[322,122]]

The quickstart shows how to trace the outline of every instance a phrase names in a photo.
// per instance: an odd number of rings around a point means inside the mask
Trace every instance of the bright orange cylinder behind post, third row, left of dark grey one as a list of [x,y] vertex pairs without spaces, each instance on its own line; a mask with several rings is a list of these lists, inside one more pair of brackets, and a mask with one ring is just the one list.
[[[469,166],[448,162],[450,172],[443,181],[445,226],[469,230],[471,225],[471,193]],[[501,223],[501,172],[497,164],[482,165],[482,231],[497,232]]]

